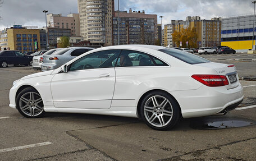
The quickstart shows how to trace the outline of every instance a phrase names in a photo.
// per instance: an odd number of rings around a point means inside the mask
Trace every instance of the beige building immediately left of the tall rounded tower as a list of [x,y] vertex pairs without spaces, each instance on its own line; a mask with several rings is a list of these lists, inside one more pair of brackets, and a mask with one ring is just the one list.
[[80,36],[80,19],[78,13],[70,13],[67,17],[61,14],[47,14],[47,26],[57,29],[70,29],[71,36]]

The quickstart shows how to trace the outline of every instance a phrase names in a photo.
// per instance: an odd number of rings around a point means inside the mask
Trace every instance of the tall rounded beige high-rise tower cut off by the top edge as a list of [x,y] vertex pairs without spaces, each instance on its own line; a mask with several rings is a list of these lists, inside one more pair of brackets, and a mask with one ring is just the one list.
[[113,44],[114,0],[77,0],[80,32],[92,45]]

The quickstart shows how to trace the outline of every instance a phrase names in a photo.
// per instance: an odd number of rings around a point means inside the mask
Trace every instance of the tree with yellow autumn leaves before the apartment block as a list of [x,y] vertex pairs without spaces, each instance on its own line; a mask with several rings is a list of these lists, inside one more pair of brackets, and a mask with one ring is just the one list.
[[182,42],[182,48],[186,48],[186,42],[189,42],[188,48],[196,48],[196,40],[198,35],[196,34],[195,28],[190,29],[190,27],[184,29],[181,28],[181,31],[174,31],[172,33],[172,40],[176,47],[180,46]]

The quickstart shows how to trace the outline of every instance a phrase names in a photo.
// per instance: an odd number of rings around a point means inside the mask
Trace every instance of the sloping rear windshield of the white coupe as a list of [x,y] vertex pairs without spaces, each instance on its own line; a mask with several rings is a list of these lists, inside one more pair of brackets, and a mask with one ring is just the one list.
[[211,61],[208,61],[207,59],[204,59],[199,56],[195,56],[194,54],[188,53],[188,52],[182,52],[179,50],[173,50],[173,49],[159,49],[159,51],[166,53],[172,57],[175,57],[177,59],[180,59],[181,61],[184,61],[186,63],[189,63],[191,65],[199,64],[199,63],[208,63]]

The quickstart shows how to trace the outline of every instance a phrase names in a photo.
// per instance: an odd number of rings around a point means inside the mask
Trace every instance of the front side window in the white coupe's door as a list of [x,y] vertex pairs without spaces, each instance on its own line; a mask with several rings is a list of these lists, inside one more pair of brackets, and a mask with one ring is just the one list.
[[120,51],[104,50],[88,54],[69,65],[68,71],[115,67]]

